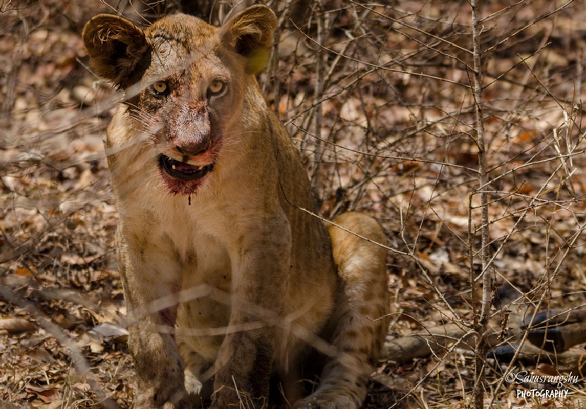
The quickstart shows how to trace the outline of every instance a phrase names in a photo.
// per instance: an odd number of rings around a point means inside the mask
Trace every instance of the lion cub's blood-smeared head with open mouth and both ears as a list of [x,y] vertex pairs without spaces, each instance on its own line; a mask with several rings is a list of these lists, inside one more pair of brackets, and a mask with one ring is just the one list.
[[272,40],[272,27],[251,28],[247,18],[217,28],[176,14],[145,30],[99,15],[84,30],[92,66],[126,90],[132,128],[146,136],[135,143],[152,147],[152,163],[172,194],[196,193],[223,148],[238,142],[229,130]]

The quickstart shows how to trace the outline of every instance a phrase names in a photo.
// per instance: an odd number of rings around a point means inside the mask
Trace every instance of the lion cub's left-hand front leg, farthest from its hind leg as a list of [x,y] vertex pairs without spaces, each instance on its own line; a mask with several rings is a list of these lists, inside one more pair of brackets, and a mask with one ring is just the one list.
[[175,262],[148,242],[138,248],[124,237],[120,226],[118,264],[130,320],[128,347],[138,376],[134,407],[188,408],[183,362],[173,333],[177,308],[173,294],[180,283]]

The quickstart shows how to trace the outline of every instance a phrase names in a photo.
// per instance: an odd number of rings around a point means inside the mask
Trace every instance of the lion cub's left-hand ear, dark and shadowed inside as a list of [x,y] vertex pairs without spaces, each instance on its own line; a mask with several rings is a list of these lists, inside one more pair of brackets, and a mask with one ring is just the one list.
[[137,68],[149,51],[144,32],[130,21],[111,14],[91,18],[81,35],[90,56],[90,66],[98,75],[119,88],[139,80]]

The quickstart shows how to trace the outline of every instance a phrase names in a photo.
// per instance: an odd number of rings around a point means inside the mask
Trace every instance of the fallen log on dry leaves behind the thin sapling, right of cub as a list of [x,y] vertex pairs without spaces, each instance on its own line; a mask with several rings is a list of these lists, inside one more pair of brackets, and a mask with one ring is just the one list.
[[[586,343],[586,310],[549,310],[534,315],[526,309],[509,314],[511,300],[518,293],[502,288],[499,295],[495,303],[498,312],[488,325],[488,343],[493,349],[487,358],[508,363],[516,356],[520,362],[530,365],[543,362],[560,372],[584,373],[586,350],[572,347]],[[502,323],[505,314],[506,325]],[[383,359],[404,365],[416,358],[441,357],[456,348],[472,350],[474,345],[475,334],[470,328],[445,324],[387,341],[381,355]]]

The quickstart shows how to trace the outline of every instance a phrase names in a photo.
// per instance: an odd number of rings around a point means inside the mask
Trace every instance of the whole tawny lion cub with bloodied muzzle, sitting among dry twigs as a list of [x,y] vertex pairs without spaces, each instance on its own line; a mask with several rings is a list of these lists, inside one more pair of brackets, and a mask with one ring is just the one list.
[[[127,92],[105,145],[136,407],[366,396],[388,325],[386,250],[304,211],[308,178],[255,79],[276,25],[257,5],[219,28],[182,14],[84,28],[91,66]],[[366,215],[334,222],[386,242]]]

